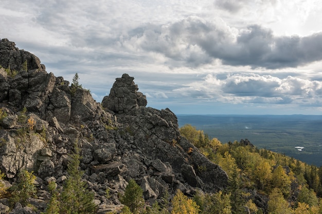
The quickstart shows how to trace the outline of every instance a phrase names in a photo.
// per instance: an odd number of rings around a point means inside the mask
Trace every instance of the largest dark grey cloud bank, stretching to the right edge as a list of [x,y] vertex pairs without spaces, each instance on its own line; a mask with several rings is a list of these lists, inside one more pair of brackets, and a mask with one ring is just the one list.
[[322,33],[305,37],[274,36],[270,29],[259,25],[241,29],[239,33],[235,31],[223,23],[209,23],[190,16],[171,25],[135,29],[127,39],[135,37],[139,48],[195,67],[215,59],[225,65],[268,69],[322,60]]

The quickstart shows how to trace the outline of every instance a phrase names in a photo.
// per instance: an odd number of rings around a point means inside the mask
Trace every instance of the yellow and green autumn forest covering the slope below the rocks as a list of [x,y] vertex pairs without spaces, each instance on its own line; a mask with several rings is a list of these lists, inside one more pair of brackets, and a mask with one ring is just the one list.
[[200,213],[322,213],[321,167],[258,149],[247,139],[223,144],[189,124],[180,132],[229,178],[217,203],[230,206],[209,212],[205,197],[197,200]]

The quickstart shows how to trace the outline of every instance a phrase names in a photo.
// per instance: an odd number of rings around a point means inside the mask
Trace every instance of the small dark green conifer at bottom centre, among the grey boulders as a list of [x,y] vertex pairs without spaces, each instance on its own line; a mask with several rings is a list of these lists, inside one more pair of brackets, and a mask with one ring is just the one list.
[[120,202],[130,208],[133,213],[139,213],[144,206],[143,190],[131,179],[127,185]]

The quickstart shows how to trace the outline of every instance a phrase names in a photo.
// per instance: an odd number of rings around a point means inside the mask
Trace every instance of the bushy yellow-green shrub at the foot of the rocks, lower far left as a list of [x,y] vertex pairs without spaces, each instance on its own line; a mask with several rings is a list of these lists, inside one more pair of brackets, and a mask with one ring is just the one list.
[[17,182],[9,188],[11,193],[9,200],[12,205],[20,202],[23,206],[26,206],[27,200],[37,192],[34,186],[36,177],[32,173],[27,170],[22,170],[18,173]]

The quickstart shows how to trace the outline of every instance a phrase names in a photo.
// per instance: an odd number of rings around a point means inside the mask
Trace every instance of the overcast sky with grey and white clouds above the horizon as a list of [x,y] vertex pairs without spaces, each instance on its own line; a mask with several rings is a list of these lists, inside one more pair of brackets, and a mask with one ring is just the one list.
[[122,73],[176,114],[321,114],[320,0],[2,0],[0,37],[101,102]]

